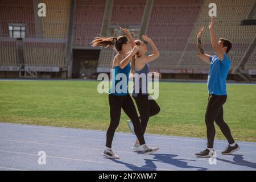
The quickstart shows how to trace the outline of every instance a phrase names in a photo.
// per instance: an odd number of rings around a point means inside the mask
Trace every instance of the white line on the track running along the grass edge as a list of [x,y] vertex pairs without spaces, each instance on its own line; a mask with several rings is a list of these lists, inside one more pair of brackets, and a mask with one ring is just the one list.
[[[49,130],[64,130],[64,131],[81,131],[82,133],[101,133],[101,134],[106,134],[106,131],[99,131],[99,130],[86,130],[86,129],[72,129],[72,128],[65,128],[65,127],[53,127],[53,126],[37,126],[37,125],[26,125],[26,124],[19,124],[19,123],[1,123],[0,125],[10,125],[10,126],[19,126],[19,127],[30,127],[30,128],[39,128],[39,129],[49,129]],[[117,132],[118,135],[123,135],[123,136],[131,136],[132,134],[129,133],[121,133]],[[205,142],[207,141],[206,139],[191,139],[187,137],[175,137],[175,136],[166,136],[166,135],[144,135],[145,137],[151,137],[151,138],[160,138],[160,139],[175,139],[175,140],[191,140],[191,141],[196,141],[196,142]],[[163,136],[163,137],[162,137]],[[214,141],[214,143],[223,143],[226,144],[226,142],[222,142],[220,140]],[[248,145],[248,146],[256,146],[256,144],[252,143],[240,143],[241,145]]]

